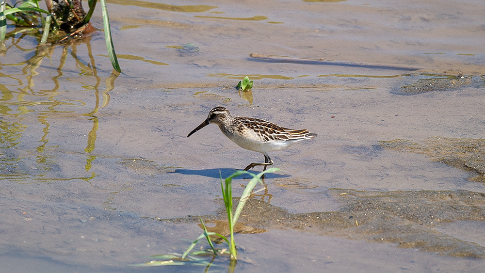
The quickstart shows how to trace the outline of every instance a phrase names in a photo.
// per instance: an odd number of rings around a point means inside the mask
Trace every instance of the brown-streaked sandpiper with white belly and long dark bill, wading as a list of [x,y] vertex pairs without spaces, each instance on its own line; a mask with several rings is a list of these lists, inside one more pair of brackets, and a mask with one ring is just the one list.
[[267,166],[273,165],[273,160],[268,156],[268,152],[281,150],[295,142],[317,136],[307,129],[283,128],[259,118],[234,117],[226,108],[218,106],[210,110],[206,120],[190,132],[187,137],[210,123],[217,124],[226,137],[240,147],[264,155],[264,163],[251,163],[244,168],[244,171],[254,166],[264,166],[263,171],[265,171]]

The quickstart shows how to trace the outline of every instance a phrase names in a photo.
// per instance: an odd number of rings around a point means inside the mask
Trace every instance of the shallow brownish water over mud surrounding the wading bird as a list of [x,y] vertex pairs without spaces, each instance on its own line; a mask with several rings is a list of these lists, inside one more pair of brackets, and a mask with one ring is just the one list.
[[[181,240],[201,233],[188,215],[219,217],[219,171],[262,161],[215,125],[186,138],[217,105],[318,133],[271,154],[281,171],[256,197],[268,213],[242,219],[264,232],[236,235],[236,272],[484,266],[481,1],[113,0],[108,9],[120,75],[102,32],[44,49],[25,32],[7,38],[2,270],[161,270],[129,265],[182,253]],[[100,16],[98,7],[98,28]],[[254,87],[238,92],[246,75]],[[235,180],[235,196],[247,181]],[[216,264],[227,270],[224,258]]]

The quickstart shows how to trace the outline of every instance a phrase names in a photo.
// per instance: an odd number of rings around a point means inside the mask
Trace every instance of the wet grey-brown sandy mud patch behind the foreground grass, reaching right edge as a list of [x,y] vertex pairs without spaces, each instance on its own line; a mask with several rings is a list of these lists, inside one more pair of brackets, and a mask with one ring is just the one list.
[[[246,203],[235,230],[253,234],[272,229],[297,229],[326,236],[393,243],[453,257],[485,258],[485,247],[438,232],[436,227],[456,221],[485,221],[485,194],[468,191],[362,192],[344,189],[327,194],[340,209],[328,212],[289,213],[253,198]],[[217,201],[220,203],[220,200]],[[237,203],[237,199],[234,200]],[[237,204],[235,204],[237,206]],[[197,216],[154,218],[164,223],[198,223]],[[228,235],[226,211],[203,216],[208,230]],[[200,224],[199,224],[200,225]],[[215,239],[215,238],[214,238]]]

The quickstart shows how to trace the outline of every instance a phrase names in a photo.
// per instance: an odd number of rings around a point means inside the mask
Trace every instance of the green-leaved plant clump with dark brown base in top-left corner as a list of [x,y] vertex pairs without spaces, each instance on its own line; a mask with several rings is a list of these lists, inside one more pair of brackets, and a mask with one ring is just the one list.
[[[110,20],[106,8],[106,0],[100,0],[103,13],[104,36],[106,47],[113,68],[121,72],[113,38],[111,36]],[[19,31],[7,33],[6,19],[14,22],[17,27],[38,29],[40,37],[39,46],[50,42],[52,44],[63,42],[70,38],[82,37],[83,34],[96,31],[90,19],[96,7],[96,0],[88,0],[89,10],[85,12],[81,0],[46,0],[47,10],[40,8],[39,0],[23,0],[10,5],[0,2],[0,48],[5,48],[5,38],[14,37]],[[42,33],[42,35],[40,35]],[[4,49],[2,49],[4,51]]]

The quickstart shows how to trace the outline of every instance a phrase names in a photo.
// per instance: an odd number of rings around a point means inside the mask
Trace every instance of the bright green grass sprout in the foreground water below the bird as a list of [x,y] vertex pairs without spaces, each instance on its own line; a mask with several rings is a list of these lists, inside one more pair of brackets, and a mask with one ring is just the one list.
[[[247,77],[246,77],[247,78]],[[152,258],[156,259],[163,259],[163,260],[152,260],[142,264],[136,264],[134,266],[160,266],[160,265],[200,265],[206,266],[206,272],[212,265],[215,257],[219,255],[228,255],[230,258],[230,265],[229,268],[232,269],[231,272],[234,271],[236,266],[236,260],[238,259],[237,256],[237,249],[236,249],[236,242],[234,241],[234,226],[236,225],[239,216],[241,215],[242,209],[246,204],[246,201],[254,194],[253,189],[259,183],[262,183],[261,177],[263,177],[267,173],[273,173],[278,171],[278,168],[270,168],[264,172],[261,172],[257,175],[247,172],[247,171],[236,171],[226,179],[222,179],[221,177],[221,190],[222,196],[224,199],[224,206],[227,213],[227,221],[229,226],[230,238],[226,238],[224,235],[221,235],[216,232],[208,232],[206,225],[200,218],[201,227],[204,229],[204,232],[195,239],[192,244],[187,248],[187,250],[182,254],[170,254],[170,255],[155,255],[151,256]],[[239,177],[243,174],[251,175],[253,178],[249,181],[249,183],[244,188],[242,192],[241,198],[239,199],[238,205],[236,209],[233,211],[233,203],[232,203],[232,179],[235,177]],[[216,236],[221,238],[222,240],[226,241],[229,251],[226,248],[219,249],[215,248],[210,236]],[[209,244],[210,248],[201,249],[197,251],[193,251],[195,245],[198,242],[203,242],[205,240]],[[209,256],[211,257],[211,261],[208,262],[204,258],[199,256]]]

